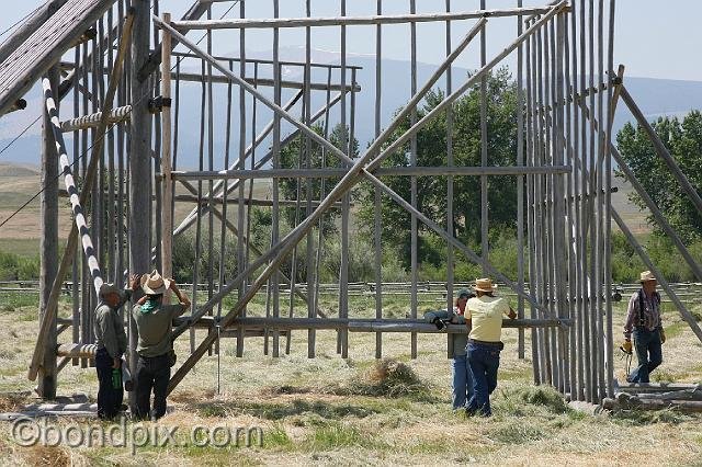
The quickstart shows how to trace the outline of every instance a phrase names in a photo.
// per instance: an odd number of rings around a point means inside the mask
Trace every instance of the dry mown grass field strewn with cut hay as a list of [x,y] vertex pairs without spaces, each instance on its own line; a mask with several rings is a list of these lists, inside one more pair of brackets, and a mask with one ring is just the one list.
[[[328,306],[335,300],[326,298]],[[33,384],[26,379],[26,367],[38,326],[35,300],[32,296],[0,296],[1,411],[31,401],[26,391]],[[389,306],[398,316],[406,309],[401,301]],[[61,315],[68,316],[67,305],[61,308]],[[353,316],[373,314],[364,298],[352,298],[350,308]],[[260,300],[251,307],[251,314],[261,310]],[[702,383],[702,345],[671,310],[666,310],[665,319],[669,340],[654,378]],[[622,320],[620,307],[615,329],[621,329]],[[199,331],[197,340],[202,337]],[[609,466],[702,462],[702,417],[671,410],[575,411],[553,389],[531,384],[531,362],[516,357],[514,330],[503,333],[507,348],[491,419],[452,413],[444,335],[420,334],[419,356],[410,360],[409,335],[385,334],[384,355],[394,360],[380,369],[373,358],[374,334],[351,333],[348,360],[336,354],[336,333],[330,331],[317,333],[317,357],[307,358],[306,338],[306,332],[294,332],[291,354],[281,352],[280,358],[263,355],[262,338],[247,339],[242,358],[235,356],[235,340],[223,340],[219,361],[216,355],[203,357],[172,394],[172,411],[159,422],[178,426],[183,445],[146,446],[134,455],[126,447],[20,447],[11,438],[10,424],[2,423],[2,464]],[[281,338],[282,350],[284,343]],[[177,351],[182,362],[189,353],[186,335],[177,342]],[[624,363],[620,360],[615,373],[621,380]],[[58,391],[94,399],[94,369],[67,366],[59,376]],[[72,421],[57,423],[66,428]],[[262,446],[199,447],[186,435],[195,425],[222,424],[260,426]]]

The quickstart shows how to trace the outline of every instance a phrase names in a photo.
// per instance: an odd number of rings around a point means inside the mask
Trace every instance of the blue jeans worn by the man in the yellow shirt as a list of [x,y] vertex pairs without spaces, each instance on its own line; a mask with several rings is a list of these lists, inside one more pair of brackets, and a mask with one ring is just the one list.
[[468,364],[473,373],[473,397],[466,411],[469,414],[480,412],[485,417],[492,414],[490,394],[497,387],[497,368],[500,366],[500,348],[492,344],[468,342]]

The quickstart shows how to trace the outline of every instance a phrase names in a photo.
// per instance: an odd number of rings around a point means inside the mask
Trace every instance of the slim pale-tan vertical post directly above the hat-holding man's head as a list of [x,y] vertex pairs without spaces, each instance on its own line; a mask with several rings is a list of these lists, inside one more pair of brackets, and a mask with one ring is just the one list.
[[[170,13],[163,13],[163,22],[170,23]],[[171,34],[161,30],[161,274],[163,277],[173,276],[173,216],[171,204],[173,181],[171,180],[171,107],[166,104],[171,98]],[[168,300],[168,294],[163,297]],[[167,301],[168,303],[168,301]]]

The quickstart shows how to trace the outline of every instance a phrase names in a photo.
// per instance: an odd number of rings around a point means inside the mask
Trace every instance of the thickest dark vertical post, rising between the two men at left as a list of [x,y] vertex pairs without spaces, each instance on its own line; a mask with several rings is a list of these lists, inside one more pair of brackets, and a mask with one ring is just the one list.
[[[129,172],[129,271],[147,273],[150,265],[151,249],[149,246],[149,205],[151,196],[145,186],[149,186],[150,179],[150,141],[151,116],[148,112],[148,100],[151,87],[149,80],[139,81],[138,70],[149,54],[150,33],[150,1],[133,0],[135,9],[134,29],[132,32],[132,127],[129,138],[128,172]],[[135,297],[135,298],[138,298]],[[136,371],[136,322],[129,317],[129,366],[132,373]],[[134,407],[135,392],[129,392],[129,403]]]

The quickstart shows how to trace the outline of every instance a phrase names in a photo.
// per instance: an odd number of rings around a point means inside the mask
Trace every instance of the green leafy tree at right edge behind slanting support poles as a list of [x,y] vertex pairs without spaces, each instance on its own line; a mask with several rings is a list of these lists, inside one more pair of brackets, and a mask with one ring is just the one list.
[[[682,172],[692,186],[702,195],[702,114],[690,112],[680,122],[677,117],[658,118],[653,127],[660,140],[670,151]],[[616,135],[616,143],[622,157],[632,169],[636,179],[644,186],[654,203],[666,214],[670,225],[686,242],[702,237],[702,215],[690,201],[670,170],[656,153],[646,132],[631,123]],[[621,174],[621,172],[618,172]],[[637,193],[629,195],[630,200],[642,209],[646,205]],[[661,230],[653,216],[648,216],[648,224],[654,226],[654,232],[661,235]]]

